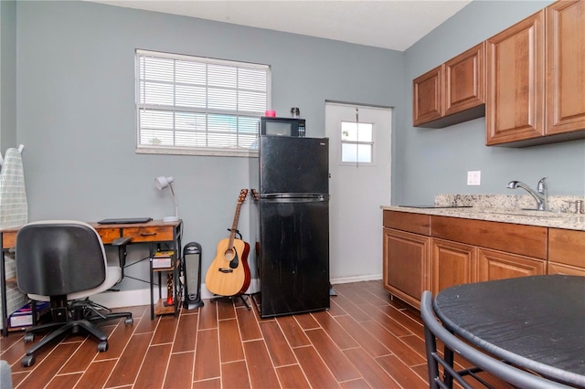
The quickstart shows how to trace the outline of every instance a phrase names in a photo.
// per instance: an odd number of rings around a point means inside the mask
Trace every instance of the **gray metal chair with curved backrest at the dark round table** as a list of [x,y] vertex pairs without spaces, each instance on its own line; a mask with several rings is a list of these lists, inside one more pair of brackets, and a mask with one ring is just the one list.
[[[431,389],[451,389],[453,380],[457,381],[465,389],[473,389],[477,384],[485,387],[493,387],[488,384],[477,373],[488,372],[516,388],[526,389],[559,389],[569,386],[558,384],[538,375],[520,370],[508,363],[499,361],[490,355],[481,352],[461,339],[452,332],[445,329],[437,320],[432,307],[432,294],[429,290],[422,293],[420,301],[420,316],[424,323],[424,338],[427,352],[427,363],[429,367],[429,385]],[[437,352],[437,339],[444,343],[443,356]],[[474,366],[455,370],[453,368],[454,355],[457,354]],[[442,366],[443,374],[439,372],[439,365]],[[471,376],[475,384],[470,384],[463,377]],[[473,382],[473,381],[471,381]]]

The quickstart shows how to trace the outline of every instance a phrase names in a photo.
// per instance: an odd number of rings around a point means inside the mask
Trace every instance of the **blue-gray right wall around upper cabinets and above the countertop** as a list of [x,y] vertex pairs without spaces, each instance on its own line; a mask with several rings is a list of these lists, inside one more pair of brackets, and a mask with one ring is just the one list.
[[[473,1],[404,52],[405,99],[412,99],[412,79],[550,3]],[[545,175],[550,194],[585,195],[585,141],[524,149],[486,147],[485,118],[438,130],[412,128],[412,107],[406,108],[401,113],[407,125],[395,132],[395,204],[429,203],[443,193],[526,195],[505,185],[514,179],[534,186]],[[467,186],[470,170],[482,172],[480,186]]]

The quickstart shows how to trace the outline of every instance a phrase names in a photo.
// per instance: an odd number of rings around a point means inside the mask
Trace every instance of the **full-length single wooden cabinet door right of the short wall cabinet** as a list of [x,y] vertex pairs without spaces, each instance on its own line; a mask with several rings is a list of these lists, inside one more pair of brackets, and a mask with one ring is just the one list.
[[545,11],[486,41],[486,144],[545,134]]

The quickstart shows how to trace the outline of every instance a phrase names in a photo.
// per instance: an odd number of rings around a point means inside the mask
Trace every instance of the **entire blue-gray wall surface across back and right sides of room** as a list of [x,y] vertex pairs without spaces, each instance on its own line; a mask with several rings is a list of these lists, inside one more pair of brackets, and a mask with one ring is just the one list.
[[[410,124],[411,79],[547,4],[476,0],[400,53],[110,5],[17,2],[16,27],[10,24],[16,28],[17,84],[7,93],[17,104],[16,140],[26,145],[30,219],[160,218],[173,208],[169,194],[154,188],[154,177],[173,175],[184,243],[202,244],[204,269],[215,257],[239,189],[250,187],[248,163],[134,152],[135,48],[270,64],[272,108],[286,115],[300,107],[309,136],[324,135],[324,100],[395,107],[393,204],[426,203],[438,193],[506,193],[511,179],[536,184],[544,175],[552,193],[582,195],[583,141],[488,148],[484,119],[441,130]],[[3,7],[3,28],[4,15]],[[3,45],[3,66],[6,52],[12,51]],[[482,171],[481,186],[466,186],[468,170]],[[244,237],[247,213],[242,207]],[[141,276],[141,268],[129,273]],[[132,279],[124,283],[144,288]]]

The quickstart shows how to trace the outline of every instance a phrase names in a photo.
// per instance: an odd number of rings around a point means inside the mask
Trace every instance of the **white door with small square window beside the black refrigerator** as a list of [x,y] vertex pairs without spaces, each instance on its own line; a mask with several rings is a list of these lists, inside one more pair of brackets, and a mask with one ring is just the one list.
[[[380,205],[390,204],[391,123],[391,109],[325,103],[331,173],[329,221],[333,283],[382,277]],[[358,141],[365,142],[345,142],[356,141],[352,129],[358,132]],[[351,150],[362,148],[364,152],[351,155]],[[372,157],[369,163],[368,152]],[[346,162],[342,161],[343,155]]]

